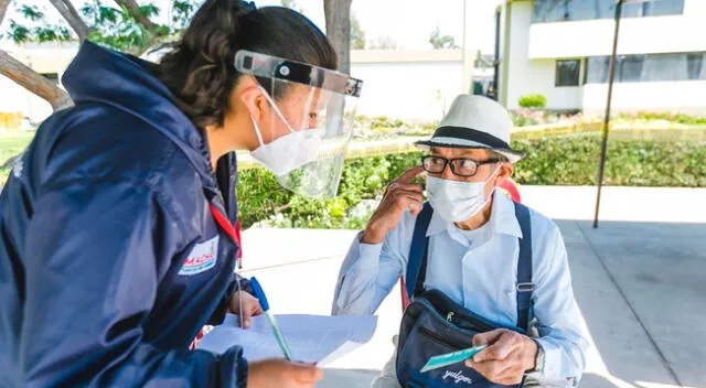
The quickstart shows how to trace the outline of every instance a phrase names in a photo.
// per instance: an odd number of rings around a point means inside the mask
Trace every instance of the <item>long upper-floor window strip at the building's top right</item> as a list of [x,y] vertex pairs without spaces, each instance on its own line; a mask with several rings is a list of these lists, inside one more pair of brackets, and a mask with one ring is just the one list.
[[[533,23],[552,23],[576,20],[612,19],[616,0],[534,0]],[[683,14],[684,0],[653,0],[628,3],[622,7],[622,18],[644,18]]]

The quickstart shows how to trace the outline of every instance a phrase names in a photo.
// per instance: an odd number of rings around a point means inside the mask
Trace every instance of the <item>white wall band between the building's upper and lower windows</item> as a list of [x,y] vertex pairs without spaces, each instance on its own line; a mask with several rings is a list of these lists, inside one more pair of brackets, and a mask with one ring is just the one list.
[[[530,8],[532,12],[532,2],[515,7]],[[530,58],[561,58],[610,55],[614,28],[612,19],[601,19],[535,23],[531,26],[523,25],[522,30],[514,31],[528,31]],[[685,0],[682,15],[621,19],[618,53],[706,51],[704,36],[706,36],[706,0]]]

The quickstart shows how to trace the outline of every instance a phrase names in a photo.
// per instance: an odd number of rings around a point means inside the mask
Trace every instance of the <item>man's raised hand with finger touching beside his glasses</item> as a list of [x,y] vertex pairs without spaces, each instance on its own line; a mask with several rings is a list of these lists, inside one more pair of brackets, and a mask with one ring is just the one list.
[[397,180],[387,185],[385,195],[371,220],[365,227],[361,242],[381,244],[397,223],[404,211],[410,211],[413,216],[421,212],[424,206],[424,187],[410,183],[424,171],[421,165],[405,171]]

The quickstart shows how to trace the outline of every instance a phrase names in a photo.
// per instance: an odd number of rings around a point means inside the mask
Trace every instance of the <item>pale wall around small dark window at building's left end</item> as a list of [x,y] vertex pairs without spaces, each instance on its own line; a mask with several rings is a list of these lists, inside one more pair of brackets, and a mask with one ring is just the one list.
[[[532,2],[515,2],[511,7],[507,108],[520,108],[517,100],[524,95],[541,94],[547,98],[549,109],[580,109],[581,86],[554,86],[555,60],[528,58],[527,35],[523,32],[530,29],[532,22]],[[582,79],[582,74],[579,79]]]

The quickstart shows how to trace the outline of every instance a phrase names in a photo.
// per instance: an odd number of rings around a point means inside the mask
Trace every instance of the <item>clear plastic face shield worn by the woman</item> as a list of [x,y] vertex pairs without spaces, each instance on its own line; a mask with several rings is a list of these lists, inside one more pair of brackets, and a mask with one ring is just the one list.
[[260,144],[253,158],[295,193],[335,196],[363,82],[245,50],[237,52],[235,67],[257,78],[271,107],[253,118]]

